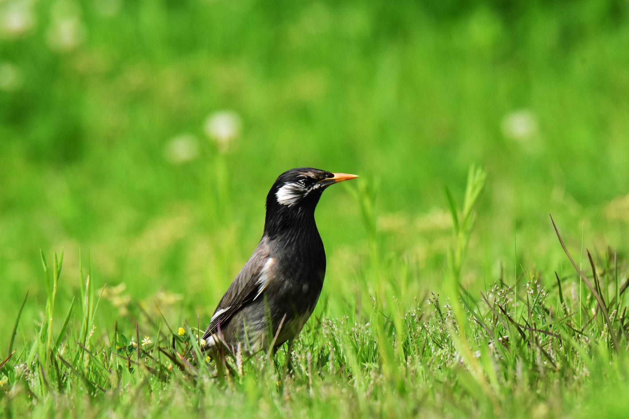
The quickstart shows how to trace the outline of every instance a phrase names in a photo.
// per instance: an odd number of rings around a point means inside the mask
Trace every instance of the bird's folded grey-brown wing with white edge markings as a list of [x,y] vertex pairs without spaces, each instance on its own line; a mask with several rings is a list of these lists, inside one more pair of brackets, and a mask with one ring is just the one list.
[[275,260],[270,257],[269,241],[267,237],[262,237],[251,258],[218,303],[202,339],[208,339],[216,334],[220,324],[225,324],[243,305],[260,297],[269,282],[274,262]]

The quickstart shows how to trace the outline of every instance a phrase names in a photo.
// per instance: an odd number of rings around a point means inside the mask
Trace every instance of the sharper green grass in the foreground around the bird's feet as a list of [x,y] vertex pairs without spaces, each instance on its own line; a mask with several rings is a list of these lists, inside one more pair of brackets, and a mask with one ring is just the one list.
[[[42,255],[46,312],[39,332],[3,362],[2,403],[7,416],[33,415],[382,415],[562,416],[584,413],[601,393],[626,388],[626,282],[619,287],[616,259],[601,259],[593,276],[574,268],[589,291],[575,298],[574,271],[556,275],[556,287],[542,274],[518,276],[520,293],[498,278],[469,295],[459,276],[474,222],[474,207],[486,173],[472,168],[462,209],[451,197],[453,244],[443,279],[446,297],[418,300],[408,260],[386,258],[377,243],[356,273],[359,290],[376,275],[376,290],[365,307],[333,310],[324,298],[292,353],[286,351],[228,359],[231,373],[198,352],[203,325],[170,325],[150,308],[131,302],[138,323],[99,328],[94,318],[100,297],[90,276],[81,283],[80,321],[72,322],[74,300],[60,330],[53,327],[63,255],[52,266]],[[356,194],[370,219],[369,200]],[[369,227],[368,227],[369,228]],[[558,243],[563,241],[557,232]],[[571,255],[566,249],[566,255]],[[588,253],[588,256],[590,254]],[[571,259],[572,260],[572,259]],[[397,281],[385,281],[396,278]],[[572,287],[572,296],[562,289]],[[365,290],[367,291],[367,290]],[[610,293],[613,297],[610,298]],[[620,299],[618,298],[620,297]],[[579,307],[582,317],[577,317]],[[343,314],[345,313],[345,314]],[[611,314],[610,314],[611,313]],[[622,315],[620,314],[622,313]],[[606,317],[603,317],[606,315]],[[18,316],[18,321],[20,320]],[[70,324],[70,325],[72,325]],[[178,326],[178,325],[177,325]],[[179,330],[175,330],[179,329]],[[611,330],[611,332],[610,332]],[[55,337],[56,336],[56,337]],[[13,344],[13,342],[11,342]],[[9,348],[10,349],[10,348]],[[618,393],[620,396],[620,393]],[[622,415],[625,406],[606,405]],[[204,413],[202,413],[204,412]],[[587,414],[586,414],[587,415]]]

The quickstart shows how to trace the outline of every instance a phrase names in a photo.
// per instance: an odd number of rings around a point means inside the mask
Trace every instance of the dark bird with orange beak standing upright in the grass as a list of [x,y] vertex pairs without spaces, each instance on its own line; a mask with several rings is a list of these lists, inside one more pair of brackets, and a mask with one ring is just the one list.
[[266,199],[264,232],[221,298],[201,337],[203,351],[276,351],[294,338],[315,309],[326,259],[315,208],[326,188],[357,178],[301,167],[287,170]]

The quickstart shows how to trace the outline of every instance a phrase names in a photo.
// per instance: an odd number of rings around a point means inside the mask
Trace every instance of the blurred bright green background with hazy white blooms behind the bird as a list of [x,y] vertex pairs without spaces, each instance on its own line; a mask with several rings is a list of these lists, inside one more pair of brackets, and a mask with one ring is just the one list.
[[438,290],[443,188],[460,202],[470,163],[472,286],[565,263],[549,212],[574,249],[626,252],[628,46],[626,0],[0,1],[0,335],[27,290],[43,310],[40,249],[65,251],[66,300],[80,249],[118,286],[103,315],[157,300],[203,323],[295,166],[362,177],[317,212],[338,307],[368,253],[348,189],[413,292]]

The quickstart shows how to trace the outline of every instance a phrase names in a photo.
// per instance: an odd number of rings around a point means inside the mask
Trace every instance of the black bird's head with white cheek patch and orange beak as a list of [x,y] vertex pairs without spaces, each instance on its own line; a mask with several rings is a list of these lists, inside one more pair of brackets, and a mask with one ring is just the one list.
[[275,181],[267,195],[267,226],[274,219],[283,219],[297,214],[314,214],[321,193],[329,187],[344,180],[357,178],[347,173],[311,167],[300,167],[287,170]]

